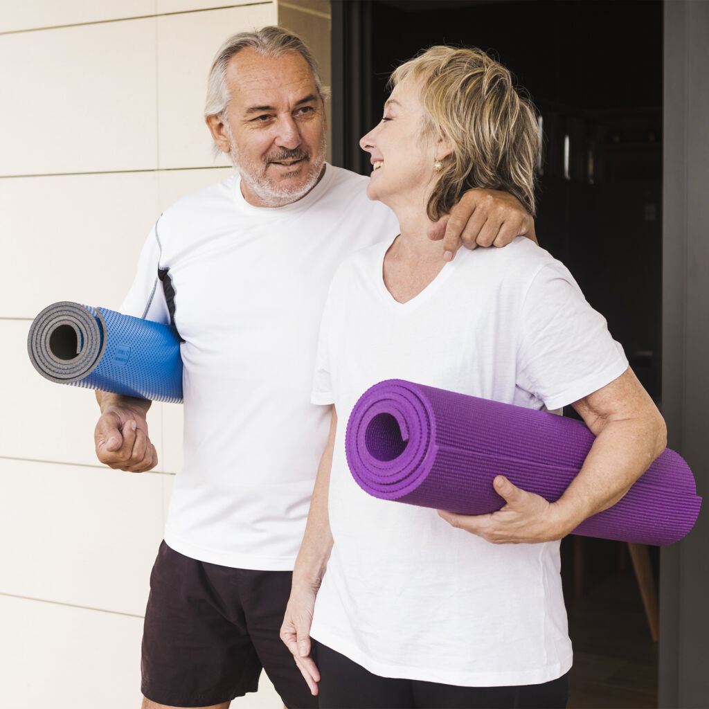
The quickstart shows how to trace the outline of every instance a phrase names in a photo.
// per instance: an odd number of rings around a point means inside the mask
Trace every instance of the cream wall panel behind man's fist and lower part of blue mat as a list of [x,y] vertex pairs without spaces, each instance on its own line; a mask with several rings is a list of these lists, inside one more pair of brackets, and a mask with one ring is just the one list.
[[[3,384],[0,455],[99,466],[94,428],[99,418],[94,392],[47,381],[27,354],[29,320],[0,320]],[[162,450],[162,408],[147,415],[150,439]],[[100,472],[97,470],[96,472]]]

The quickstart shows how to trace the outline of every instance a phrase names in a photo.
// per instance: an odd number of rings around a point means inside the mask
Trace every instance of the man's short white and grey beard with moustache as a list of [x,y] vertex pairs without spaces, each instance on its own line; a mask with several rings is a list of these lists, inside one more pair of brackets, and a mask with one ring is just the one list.
[[249,186],[259,199],[267,207],[282,207],[286,204],[298,201],[306,196],[313,189],[320,179],[320,172],[323,171],[323,163],[325,162],[325,134],[318,145],[316,155],[310,155],[303,150],[284,150],[284,155],[275,155],[273,160],[293,160],[298,159],[298,156],[307,157],[308,159],[308,178],[305,182],[297,185],[279,184],[272,181],[267,174],[268,162],[242,162],[239,159],[236,151],[236,143],[231,135],[231,128],[227,124],[225,126],[227,137],[229,138],[230,152],[229,156],[234,167],[241,174],[241,179]]

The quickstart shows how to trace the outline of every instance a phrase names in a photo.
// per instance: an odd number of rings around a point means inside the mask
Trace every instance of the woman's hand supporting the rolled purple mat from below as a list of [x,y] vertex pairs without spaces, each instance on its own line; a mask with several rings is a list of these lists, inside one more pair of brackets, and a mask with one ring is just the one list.
[[493,480],[496,493],[506,505],[489,515],[456,515],[438,510],[453,527],[483,537],[492,544],[535,544],[561,539],[576,524],[559,518],[557,506],[534,493],[525,492],[503,475]]

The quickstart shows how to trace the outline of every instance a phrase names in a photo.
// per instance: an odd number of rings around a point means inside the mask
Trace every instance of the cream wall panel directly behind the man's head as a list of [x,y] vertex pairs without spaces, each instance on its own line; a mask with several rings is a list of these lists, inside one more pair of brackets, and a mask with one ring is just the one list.
[[[274,3],[157,18],[159,162],[167,167],[208,167],[211,137],[203,108],[209,67],[230,35],[275,24]],[[220,157],[216,164],[226,165]]]

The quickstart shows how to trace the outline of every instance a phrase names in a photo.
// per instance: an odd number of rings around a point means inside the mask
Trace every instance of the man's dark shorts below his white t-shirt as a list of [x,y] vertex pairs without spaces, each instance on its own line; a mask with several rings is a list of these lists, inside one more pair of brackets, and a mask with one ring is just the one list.
[[316,708],[279,638],[290,571],[207,564],[160,545],[143,631],[143,695],[202,707],[255,692],[262,667],[289,708]]

